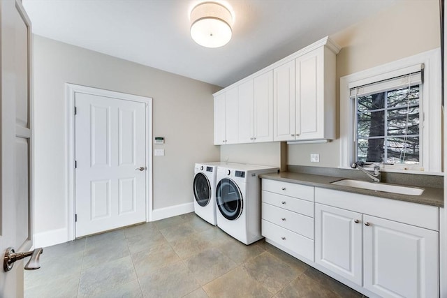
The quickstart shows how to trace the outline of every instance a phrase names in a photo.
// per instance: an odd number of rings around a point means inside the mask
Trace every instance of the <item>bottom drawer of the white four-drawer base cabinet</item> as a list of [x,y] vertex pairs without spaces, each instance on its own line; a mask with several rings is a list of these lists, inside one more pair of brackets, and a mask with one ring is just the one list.
[[265,238],[314,262],[314,240],[281,228],[269,221],[262,220],[261,224],[262,234]]

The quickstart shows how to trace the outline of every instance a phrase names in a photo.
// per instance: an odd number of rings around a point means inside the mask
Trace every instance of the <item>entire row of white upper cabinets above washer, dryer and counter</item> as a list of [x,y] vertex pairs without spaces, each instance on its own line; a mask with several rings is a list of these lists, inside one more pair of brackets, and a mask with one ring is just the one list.
[[[214,94],[226,94],[225,124],[217,123],[221,105],[214,107],[214,126],[225,126],[226,136],[214,136],[214,144],[334,139],[339,50],[325,37]],[[229,95],[237,110],[228,109]]]

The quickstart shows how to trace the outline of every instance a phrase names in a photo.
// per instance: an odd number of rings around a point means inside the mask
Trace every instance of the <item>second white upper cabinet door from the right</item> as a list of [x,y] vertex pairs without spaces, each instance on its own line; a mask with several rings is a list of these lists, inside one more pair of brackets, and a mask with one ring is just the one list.
[[273,70],[274,141],[295,140],[295,61]]

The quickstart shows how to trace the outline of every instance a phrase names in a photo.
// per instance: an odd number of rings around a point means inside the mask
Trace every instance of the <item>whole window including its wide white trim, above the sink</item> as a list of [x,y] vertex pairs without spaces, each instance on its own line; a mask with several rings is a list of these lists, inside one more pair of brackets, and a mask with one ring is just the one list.
[[340,78],[340,167],[441,172],[441,54],[417,54]]

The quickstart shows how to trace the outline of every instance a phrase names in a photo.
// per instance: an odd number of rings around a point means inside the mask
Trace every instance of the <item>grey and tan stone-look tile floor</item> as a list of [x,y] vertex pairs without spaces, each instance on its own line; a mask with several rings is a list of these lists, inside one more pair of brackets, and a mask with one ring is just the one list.
[[250,246],[196,214],[44,248],[25,297],[359,297],[261,240]]

